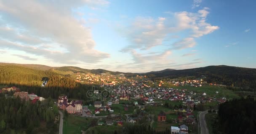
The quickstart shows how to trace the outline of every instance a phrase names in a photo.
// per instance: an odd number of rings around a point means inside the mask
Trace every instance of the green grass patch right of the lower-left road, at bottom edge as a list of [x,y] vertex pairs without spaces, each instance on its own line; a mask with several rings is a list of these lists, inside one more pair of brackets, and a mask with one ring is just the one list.
[[91,120],[85,117],[69,115],[63,121],[63,134],[81,134],[81,130],[87,130],[89,128]]

